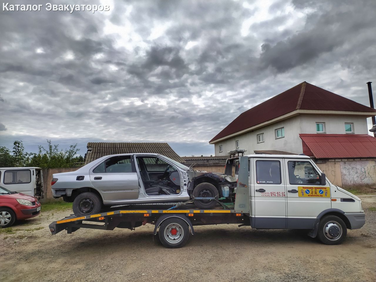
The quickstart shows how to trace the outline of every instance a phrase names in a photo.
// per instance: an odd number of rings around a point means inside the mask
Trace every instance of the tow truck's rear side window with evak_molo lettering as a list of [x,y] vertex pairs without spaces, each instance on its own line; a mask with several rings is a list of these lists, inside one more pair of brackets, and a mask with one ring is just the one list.
[[279,161],[256,161],[257,184],[280,184],[281,165]]

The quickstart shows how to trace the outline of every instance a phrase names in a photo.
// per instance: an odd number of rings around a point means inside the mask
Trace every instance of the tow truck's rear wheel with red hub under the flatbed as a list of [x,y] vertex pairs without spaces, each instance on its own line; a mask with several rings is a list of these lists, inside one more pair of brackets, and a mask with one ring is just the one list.
[[178,217],[167,218],[159,226],[158,235],[163,246],[167,248],[183,247],[189,238],[188,224]]

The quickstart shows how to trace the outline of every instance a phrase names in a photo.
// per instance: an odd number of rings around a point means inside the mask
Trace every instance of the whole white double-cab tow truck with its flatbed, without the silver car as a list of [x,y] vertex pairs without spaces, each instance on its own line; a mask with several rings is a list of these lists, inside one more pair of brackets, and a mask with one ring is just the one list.
[[311,158],[301,155],[239,156],[234,203],[217,200],[213,209],[198,209],[193,200],[173,206],[112,207],[98,214],[71,215],[54,221],[49,228],[54,235],[62,230],[70,234],[80,228],[134,230],[149,223],[155,225],[153,234],[158,234],[165,247],[179,248],[187,243],[190,234],[194,235],[197,225],[308,229],[310,237],[335,245],[343,242],[347,229],[358,229],[365,223],[361,200],[331,184]]

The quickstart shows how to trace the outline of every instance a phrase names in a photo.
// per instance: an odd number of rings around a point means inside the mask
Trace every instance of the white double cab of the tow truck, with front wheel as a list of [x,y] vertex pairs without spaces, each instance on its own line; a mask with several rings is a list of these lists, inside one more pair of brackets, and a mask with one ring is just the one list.
[[[333,185],[308,156],[240,157],[240,187],[249,192],[250,224],[256,229],[309,229],[326,244],[339,244],[346,229],[365,223],[361,200]],[[242,188],[244,190],[244,188]],[[235,203],[235,210],[239,210]]]

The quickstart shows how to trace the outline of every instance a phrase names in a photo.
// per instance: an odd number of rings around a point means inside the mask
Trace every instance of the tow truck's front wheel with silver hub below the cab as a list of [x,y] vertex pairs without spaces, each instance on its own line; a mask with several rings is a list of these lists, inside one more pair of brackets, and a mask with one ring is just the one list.
[[343,220],[335,215],[326,215],[320,219],[318,238],[326,245],[339,245],[345,240],[347,227]]

